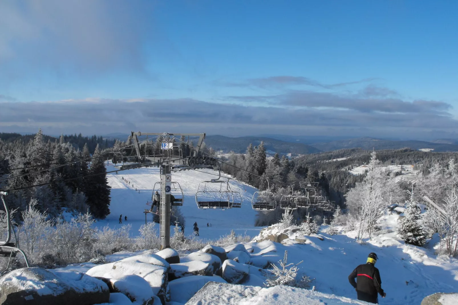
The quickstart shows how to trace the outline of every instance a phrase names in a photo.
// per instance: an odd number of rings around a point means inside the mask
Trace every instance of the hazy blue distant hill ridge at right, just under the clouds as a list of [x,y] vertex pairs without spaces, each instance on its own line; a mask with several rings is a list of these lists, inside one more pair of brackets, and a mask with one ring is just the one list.
[[392,141],[385,139],[377,139],[371,137],[338,140],[333,142],[314,143],[311,146],[319,149],[322,152],[329,152],[342,148],[356,148],[360,147],[365,150],[380,149],[399,149],[403,147],[410,147],[411,149],[433,149],[433,152],[458,152],[457,140],[442,139],[435,142],[426,141]]

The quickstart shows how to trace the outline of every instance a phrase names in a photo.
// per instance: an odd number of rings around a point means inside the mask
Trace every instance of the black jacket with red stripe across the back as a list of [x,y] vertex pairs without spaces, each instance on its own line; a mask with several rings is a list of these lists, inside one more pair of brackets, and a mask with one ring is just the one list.
[[[357,282],[354,281],[355,278],[357,278]],[[371,263],[356,267],[348,276],[348,280],[358,292],[358,296],[361,293],[376,298],[377,292],[383,296],[380,272],[378,272],[378,269]]]

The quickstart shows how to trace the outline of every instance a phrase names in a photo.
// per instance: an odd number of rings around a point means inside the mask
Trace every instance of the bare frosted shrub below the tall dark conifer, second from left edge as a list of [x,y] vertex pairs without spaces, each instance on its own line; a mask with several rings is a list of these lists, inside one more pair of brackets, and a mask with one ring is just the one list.
[[91,214],[80,214],[66,222],[59,219],[51,235],[57,255],[67,263],[85,261],[93,251],[93,218]]

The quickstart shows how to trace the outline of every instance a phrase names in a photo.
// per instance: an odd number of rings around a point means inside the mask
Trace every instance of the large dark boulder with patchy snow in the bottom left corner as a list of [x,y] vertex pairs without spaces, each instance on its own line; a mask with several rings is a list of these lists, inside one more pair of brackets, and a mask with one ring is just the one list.
[[104,282],[76,271],[20,268],[0,278],[2,305],[92,305],[109,294]]

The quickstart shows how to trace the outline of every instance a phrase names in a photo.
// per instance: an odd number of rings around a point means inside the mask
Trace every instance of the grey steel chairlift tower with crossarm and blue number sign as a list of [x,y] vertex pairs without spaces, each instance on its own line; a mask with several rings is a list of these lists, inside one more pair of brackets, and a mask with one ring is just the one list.
[[[154,152],[153,155],[147,155],[146,152],[142,155],[140,149],[140,142],[138,141],[139,136],[162,136],[162,146],[160,153]],[[192,136],[199,137],[196,147],[191,151],[189,157],[183,158],[183,154],[179,152],[180,148],[174,146],[174,138],[176,136]],[[114,164],[122,163],[120,166],[116,166],[119,169],[138,168],[145,166],[158,166],[160,168],[161,177],[161,201],[160,201],[160,239],[161,248],[170,248],[170,214],[171,214],[171,202],[170,202],[170,190],[172,182],[172,172],[186,170],[186,169],[198,169],[207,168],[209,166],[217,165],[215,158],[203,157],[199,154],[202,142],[205,139],[205,133],[145,133],[145,132],[134,132],[131,133],[132,146],[136,151],[136,156],[124,156],[122,153],[120,156],[114,155],[112,161]],[[191,147],[192,148],[192,147]],[[174,151],[178,150],[178,154]]]

